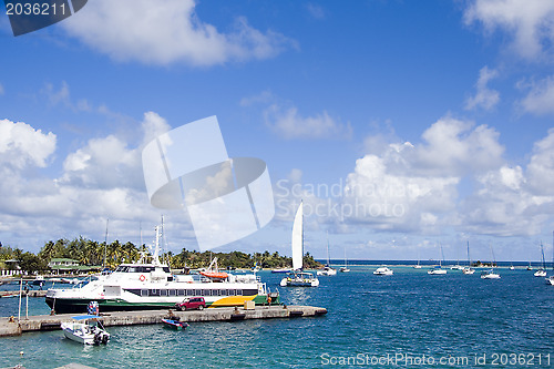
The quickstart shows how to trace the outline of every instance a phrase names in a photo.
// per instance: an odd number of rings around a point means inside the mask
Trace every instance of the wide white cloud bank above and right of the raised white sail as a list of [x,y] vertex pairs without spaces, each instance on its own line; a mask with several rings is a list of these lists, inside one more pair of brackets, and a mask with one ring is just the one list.
[[465,178],[484,181],[501,168],[501,186],[515,192],[525,184],[521,168],[502,168],[504,148],[497,132],[485,125],[447,116],[425,130],[417,144],[391,143],[391,136],[376,144],[378,139],[372,136],[371,147],[379,150],[357,160],[337,184],[301,183],[301,172],[293,170],[275,186],[277,218],[290,221],[295,205],[304,199],[307,212],[317,215],[316,224],[336,230],[357,232],[363,224],[377,230],[440,234],[464,229],[462,219],[471,221],[459,213],[468,196],[459,188]]

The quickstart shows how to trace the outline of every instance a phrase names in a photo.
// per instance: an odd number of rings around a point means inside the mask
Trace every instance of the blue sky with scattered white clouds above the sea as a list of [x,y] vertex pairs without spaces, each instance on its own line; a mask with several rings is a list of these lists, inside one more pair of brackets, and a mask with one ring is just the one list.
[[[102,240],[106,218],[152,239],[142,147],[217,115],[280,204],[223,250],[289,255],[304,198],[325,209],[306,219],[317,257],[327,230],[337,258],[551,255],[553,20],[541,0],[90,0],[14,38],[3,14],[0,240]],[[197,249],[186,213],[165,222],[173,252]]]

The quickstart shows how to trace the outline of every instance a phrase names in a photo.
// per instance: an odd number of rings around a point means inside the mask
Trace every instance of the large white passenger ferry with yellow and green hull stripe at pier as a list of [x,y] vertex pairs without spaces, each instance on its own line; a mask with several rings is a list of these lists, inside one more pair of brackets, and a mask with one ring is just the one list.
[[[96,276],[74,288],[47,291],[45,301],[55,312],[83,312],[90,301],[98,301],[100,311],[174,308],[186,297],[202,296],[206,307],[279,304],[278,293],[268,294],[265,283],[255,274],[232,275],[217,270],[217,259],[206,271],[173,275],[158,258],[160,234],[152,262],[122,264],[110,275]],[[215,265],[215,266],[214,266]],[[270,297],[270,298],[268,298]]]

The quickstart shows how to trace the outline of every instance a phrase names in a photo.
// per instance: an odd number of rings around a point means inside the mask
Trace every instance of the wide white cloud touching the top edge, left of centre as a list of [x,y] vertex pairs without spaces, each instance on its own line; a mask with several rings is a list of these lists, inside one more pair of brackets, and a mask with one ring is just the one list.
[[[280,33],[260,32],[245,18],[233,31],[203,22],[193,0],[95,0],[62,23],[70,34],[113,59],[167,65],[214,65],[271,58],[295,42]],[[102,24],[101,27],[99,24]]]

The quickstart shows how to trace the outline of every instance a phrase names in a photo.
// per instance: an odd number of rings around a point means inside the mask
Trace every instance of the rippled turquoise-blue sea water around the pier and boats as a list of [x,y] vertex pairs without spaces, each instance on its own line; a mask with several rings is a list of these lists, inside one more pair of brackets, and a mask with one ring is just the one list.
[[[524,269],[500,269],[499,280],[479,270],[393,269],[378,277],[372,266],[352,266],[320,277],[318,288],[279,288],[283,275],[261,271],[285,304],[328,314],[197,322],[185,331],[110,327],[105,347],[82,347],[61,331],[24,334],[0,338],[0,368],[554,368],[554,286],[544,278]],[[30,315],[48,314],[43,299],[29,301]],[[0,299],[0,316],[17,312],[17,298]]]

